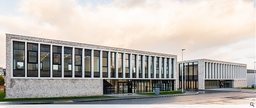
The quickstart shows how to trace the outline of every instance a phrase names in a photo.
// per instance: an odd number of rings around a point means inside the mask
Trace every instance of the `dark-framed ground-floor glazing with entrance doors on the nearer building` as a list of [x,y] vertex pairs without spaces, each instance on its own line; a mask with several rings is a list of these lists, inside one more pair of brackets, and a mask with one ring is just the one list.
[[174,80],[103,80],[103,94],[173,91]]

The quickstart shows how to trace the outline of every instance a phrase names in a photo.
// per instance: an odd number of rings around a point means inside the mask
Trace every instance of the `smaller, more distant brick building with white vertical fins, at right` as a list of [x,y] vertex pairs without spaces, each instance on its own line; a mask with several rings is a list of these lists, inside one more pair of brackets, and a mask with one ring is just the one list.
[[[179,88],[182,88],[182,62],[178,62]],[[183,61],[184,88],[214,89],[246,87],[246,64],[198,59]]]

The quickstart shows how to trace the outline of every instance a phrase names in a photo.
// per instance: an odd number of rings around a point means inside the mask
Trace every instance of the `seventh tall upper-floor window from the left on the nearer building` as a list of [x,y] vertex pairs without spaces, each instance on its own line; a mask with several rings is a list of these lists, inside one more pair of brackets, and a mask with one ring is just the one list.
[[84,49],[84,77],[91,77],[91,50]]

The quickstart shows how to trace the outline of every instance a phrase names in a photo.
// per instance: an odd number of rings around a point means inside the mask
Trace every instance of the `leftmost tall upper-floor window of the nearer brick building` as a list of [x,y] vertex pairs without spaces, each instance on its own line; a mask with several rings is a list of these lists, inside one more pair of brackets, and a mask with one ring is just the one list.
[[13,42],[13,76],[25,76],[25,43]]

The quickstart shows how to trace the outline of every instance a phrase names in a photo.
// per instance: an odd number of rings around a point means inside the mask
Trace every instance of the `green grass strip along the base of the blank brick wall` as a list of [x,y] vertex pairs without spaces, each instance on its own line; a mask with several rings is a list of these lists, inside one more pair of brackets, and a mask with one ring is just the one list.
[[81,97],[56,97],[56,98],[14,98],[4,99],[5,93],[0,93],[0,102],[11,102],[11,101],[33,101],[33,100],[65,100],[65,99],[86,99],[86,98],[109,98],[113,96],[81,96]]

